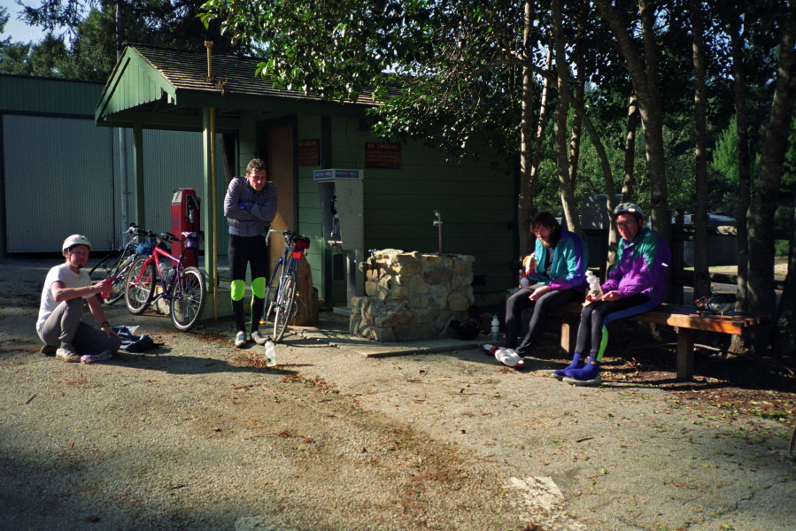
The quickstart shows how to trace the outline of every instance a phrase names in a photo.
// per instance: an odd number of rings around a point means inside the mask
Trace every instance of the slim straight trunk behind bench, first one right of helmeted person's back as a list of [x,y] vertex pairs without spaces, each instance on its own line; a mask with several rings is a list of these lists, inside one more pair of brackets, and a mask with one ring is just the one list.
[[689,0],[694,62],[694,162],[697,204],[694,209],[694,298],[710,296],[707,264],[707,100],[705,42],[700,0]]

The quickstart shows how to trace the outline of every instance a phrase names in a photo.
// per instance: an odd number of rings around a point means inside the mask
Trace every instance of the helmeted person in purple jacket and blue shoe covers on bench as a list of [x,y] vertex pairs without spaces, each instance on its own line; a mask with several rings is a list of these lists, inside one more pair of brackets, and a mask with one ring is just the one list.
[[[671,251],[660,235],[644,226],[638,204],[622,203],[614,209],[622,240],[614,267],[602,285],[599,298],[586,296],[577,329],[572,363],[553,377],[575,385],[599,386],[599,364],[608,343],[608,324],[649,312],[663,302]],[[588,359],[583,357],[588,354]]]

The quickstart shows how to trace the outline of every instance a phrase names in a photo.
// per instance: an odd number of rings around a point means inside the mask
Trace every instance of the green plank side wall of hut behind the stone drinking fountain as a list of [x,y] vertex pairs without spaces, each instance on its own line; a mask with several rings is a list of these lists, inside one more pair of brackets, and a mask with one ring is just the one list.
[[[321,139],[321,118],[298,120],[298,140]],[[365,143],[383,142],[359,130],[357,119],[331,119],[330,160],[327,167],[364,169],[365,250],[402,249],[434,253],[438,232],[434,210],[442,214],[443,252],[475,257],[474,273],[484,285],[476,293],[497,293],[516,279],[508,264],[516,259],[514,174],[490,169],[490,160],[445,160],[443,152],[418,142],[401,146],[401,169],[365,168]],[[309,260],[321,296],[343,303],[344,281],[330,281],[331,251],[318,252],[321,238],[320,204],[313,170],[298,168],[298,219],[302,234],[314,238]],[[331,288],[327,283],[331,282]]]

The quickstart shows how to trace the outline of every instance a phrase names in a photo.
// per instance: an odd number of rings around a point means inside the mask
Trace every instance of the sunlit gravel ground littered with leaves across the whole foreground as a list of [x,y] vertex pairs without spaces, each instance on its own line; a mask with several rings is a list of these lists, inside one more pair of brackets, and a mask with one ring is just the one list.
[[638,381],[569,387],[550,359],[365,358],[323,341],[342,336],[325,315],[269,370],[229,319],[182,334],[121,307],[114,324],[164,346],[46,358],[35,313],[57,263],[0,260],[2,530],[796,527],[782,424]]

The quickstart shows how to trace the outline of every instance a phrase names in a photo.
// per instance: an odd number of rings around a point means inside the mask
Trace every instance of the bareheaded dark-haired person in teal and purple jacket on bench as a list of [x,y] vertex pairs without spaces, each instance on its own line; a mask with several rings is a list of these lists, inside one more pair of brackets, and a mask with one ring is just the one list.
[[[522,288],[506,301],[506,349],[529,356],[545,331],[545,321],[556,308],[583,301],[589,250],[583,239],[562,228],[550,212],[539,212],[530,221],[537,236],[536,250],[523,273]],[[528,331],[522,332],[522,311],[532,309]]]

